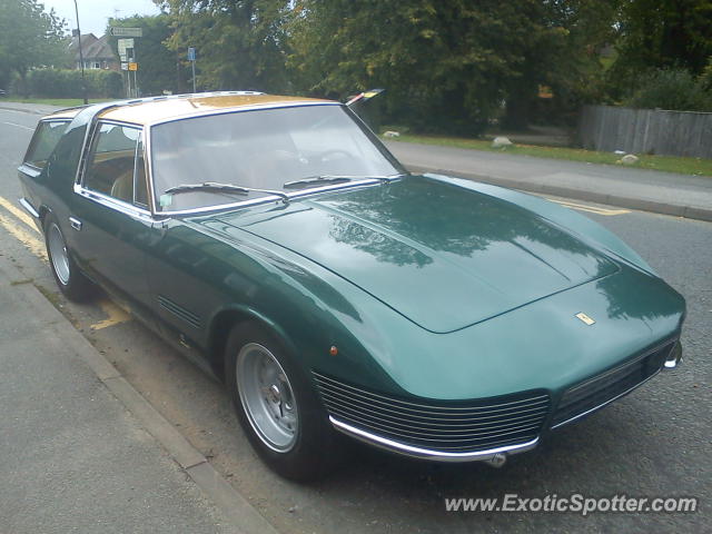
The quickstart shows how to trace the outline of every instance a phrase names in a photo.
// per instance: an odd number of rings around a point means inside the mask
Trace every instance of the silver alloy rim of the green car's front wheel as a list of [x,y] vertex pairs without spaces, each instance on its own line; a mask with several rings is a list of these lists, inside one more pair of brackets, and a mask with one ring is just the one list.
[[248,343],[235,366],[240,402],[255,433],[278,453],[289,452],[299,428],[299,415],[289,378],[264,346]]

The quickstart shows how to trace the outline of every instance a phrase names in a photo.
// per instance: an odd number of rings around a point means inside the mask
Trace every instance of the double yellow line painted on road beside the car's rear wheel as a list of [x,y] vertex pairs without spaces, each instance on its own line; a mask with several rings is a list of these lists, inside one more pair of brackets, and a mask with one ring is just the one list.
[[[0,197],[0,207],[12,216],[9,217],[0,210],[0,226],[20,241],[32,255],[47,263],[47,249],[42,240],[42,234],[38,230],[37,226],[34,226],[32,218],[4,197]],[[17,221],[21,224],[19,225]],[[131,316],[127,312],[107,298],[102,298],[97,304],[107,318],[91,325],[92,330],[100,330],[131,320]]]

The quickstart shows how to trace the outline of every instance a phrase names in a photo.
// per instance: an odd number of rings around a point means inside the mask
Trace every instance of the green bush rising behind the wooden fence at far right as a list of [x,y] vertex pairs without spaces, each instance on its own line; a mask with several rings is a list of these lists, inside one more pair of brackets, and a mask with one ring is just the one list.
[[655,70],[641,79],[640,89],[625,105],[680,111],[712,111],[712,91],[704,75],[695,78],[684,69]]

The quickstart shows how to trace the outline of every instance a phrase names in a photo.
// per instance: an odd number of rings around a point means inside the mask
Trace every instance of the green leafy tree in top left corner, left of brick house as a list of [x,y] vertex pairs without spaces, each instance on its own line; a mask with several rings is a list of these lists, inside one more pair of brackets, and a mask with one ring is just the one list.
[[[0,0],[0,72],[20,78],[27,93],[27,73],[33,67],[68,62],[65,21],[36,0]],[[2,81],[2,80],[0,80]]]

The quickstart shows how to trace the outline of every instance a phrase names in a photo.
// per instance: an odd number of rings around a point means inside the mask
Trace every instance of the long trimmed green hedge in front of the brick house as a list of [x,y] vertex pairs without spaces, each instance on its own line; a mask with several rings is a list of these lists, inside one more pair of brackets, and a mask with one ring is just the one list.
[[[85,70],[87,96],[89,98],[120,98],[123,80],[113,70]],[[19,80],[18,80],[19,82]],[[16,86],[13,92],[21,92]],[[33,97],[80,98],[81,71],[69,69],[36,69],[28,72],[27,92]]]

